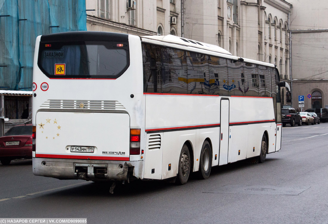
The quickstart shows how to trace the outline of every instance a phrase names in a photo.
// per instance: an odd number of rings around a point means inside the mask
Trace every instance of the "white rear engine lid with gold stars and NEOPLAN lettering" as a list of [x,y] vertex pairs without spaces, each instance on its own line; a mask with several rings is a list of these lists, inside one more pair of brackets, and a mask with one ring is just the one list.
[[[129,159],[127,113],[38,112],[36,157]],[[42,124],[42,126],[41,126]],[[93,153],[71,152],[71,146],[93,146]]]

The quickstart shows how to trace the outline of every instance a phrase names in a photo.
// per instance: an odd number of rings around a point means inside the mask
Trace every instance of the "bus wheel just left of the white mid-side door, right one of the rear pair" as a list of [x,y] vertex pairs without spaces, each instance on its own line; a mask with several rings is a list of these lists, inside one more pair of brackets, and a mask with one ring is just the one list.
[[210,176],[212,168],[212,150],[210,143],[204,141],[202,150],[200,151],[199,159],[199,177],[201,179],[207,179]]

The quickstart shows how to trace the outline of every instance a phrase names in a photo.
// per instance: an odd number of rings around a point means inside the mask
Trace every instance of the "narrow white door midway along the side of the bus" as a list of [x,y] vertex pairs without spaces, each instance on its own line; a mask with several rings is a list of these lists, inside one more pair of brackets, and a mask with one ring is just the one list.
[[229,145],[229,99],[221,98],[219,165],[228,163]]

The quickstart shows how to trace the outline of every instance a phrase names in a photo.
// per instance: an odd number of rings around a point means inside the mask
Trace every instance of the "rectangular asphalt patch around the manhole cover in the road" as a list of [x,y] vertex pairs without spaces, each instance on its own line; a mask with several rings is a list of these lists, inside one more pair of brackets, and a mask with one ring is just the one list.
[[218,194],[249,194],[249,195],[299,195],[310,187],[278,187],[278,186],[247,186],[227,185],[203,193]]

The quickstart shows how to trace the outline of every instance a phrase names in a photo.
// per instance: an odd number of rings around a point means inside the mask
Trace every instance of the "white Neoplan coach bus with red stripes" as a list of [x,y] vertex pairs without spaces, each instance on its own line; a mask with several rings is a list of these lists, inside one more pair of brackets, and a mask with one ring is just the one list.
[[177,36],[66,32],[37,37],[33,173],[167,180],[281,145],[279,74]]

